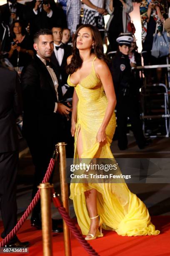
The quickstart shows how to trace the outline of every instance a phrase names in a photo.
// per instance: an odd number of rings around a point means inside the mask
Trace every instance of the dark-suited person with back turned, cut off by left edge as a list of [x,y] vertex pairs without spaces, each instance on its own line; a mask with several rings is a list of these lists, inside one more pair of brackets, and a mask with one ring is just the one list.
[[[5,238],[17,224],[16,180],[18,165],[18,134],[16,118],[22,113],[18,74],[0,63],[0,210]],[[28,247],[15,235],[8,247]]]

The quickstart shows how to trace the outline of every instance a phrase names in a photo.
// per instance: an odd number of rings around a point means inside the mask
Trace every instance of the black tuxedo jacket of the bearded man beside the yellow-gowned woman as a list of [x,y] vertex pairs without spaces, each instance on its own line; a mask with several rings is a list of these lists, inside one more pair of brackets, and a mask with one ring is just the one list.
[[[57,96],[52,78],[45,64],[37,56],[23,68],[21,86],[24,108],[23,135],[28,146],[33,143],[35,150],[42,145],[51,148],[60,138],[62,118],[58,113],[54,113]],[[58,90],[59,99],[62,99],[60,87]]]

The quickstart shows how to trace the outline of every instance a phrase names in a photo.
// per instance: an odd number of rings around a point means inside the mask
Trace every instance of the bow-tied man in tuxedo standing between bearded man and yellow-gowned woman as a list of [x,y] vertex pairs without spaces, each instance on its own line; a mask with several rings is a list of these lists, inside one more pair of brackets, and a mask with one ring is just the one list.
[[62,44],[62,28],[57,26],[53,27],[52,34],[54,38],[54,51],[50,60],[57,70],[62,86],[62,94],[66,99],[72,97],[74,92],[74,88],[67,85],[68,75],[66,73],[67,58],[72,54],[72,47]]

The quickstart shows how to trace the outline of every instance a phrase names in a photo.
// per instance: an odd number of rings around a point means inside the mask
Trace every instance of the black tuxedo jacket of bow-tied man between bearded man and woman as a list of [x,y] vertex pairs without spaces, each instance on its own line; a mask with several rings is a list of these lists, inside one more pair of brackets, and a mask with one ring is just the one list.
[[[61,86],[64,85],[64,84],[67,84],[67,78],[68,78],[68,75],[67,75],[67,72],[66,72],[67,58],[68,58],[68,56],[70,56],[72,54],[72,47],[71,46],[63,44],[63,48],[64,48],[64,55],[63,55],[63,58],[62,58],[61,66],[58,63],[58,60],[55,56],[54,51],[53,51],[53,53],[51,55],[51,58],[50,58],[50,61],[54,65],[58,76],[60,77],[60,75],[61,75],[61,80],[60,80]],[[67,90],[66,95],[64,95],[64,97],[65,98],[66,97],[72,97],[73,91],[74,91],[74,88],[70,87]]]

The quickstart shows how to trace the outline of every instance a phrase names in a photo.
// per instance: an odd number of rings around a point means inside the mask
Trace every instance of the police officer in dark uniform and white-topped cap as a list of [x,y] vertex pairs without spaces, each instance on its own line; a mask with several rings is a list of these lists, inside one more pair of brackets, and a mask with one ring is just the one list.
[[146,146],[139,111],[139,87],[131,71],[128,52],[132,36],[120,36],[116,40],[119,45],[117,54],[112,59],[112,76],[117,97],[117,136],[120,150],[128,147],[127,121],[130,118],[136,143],[140,149]]

